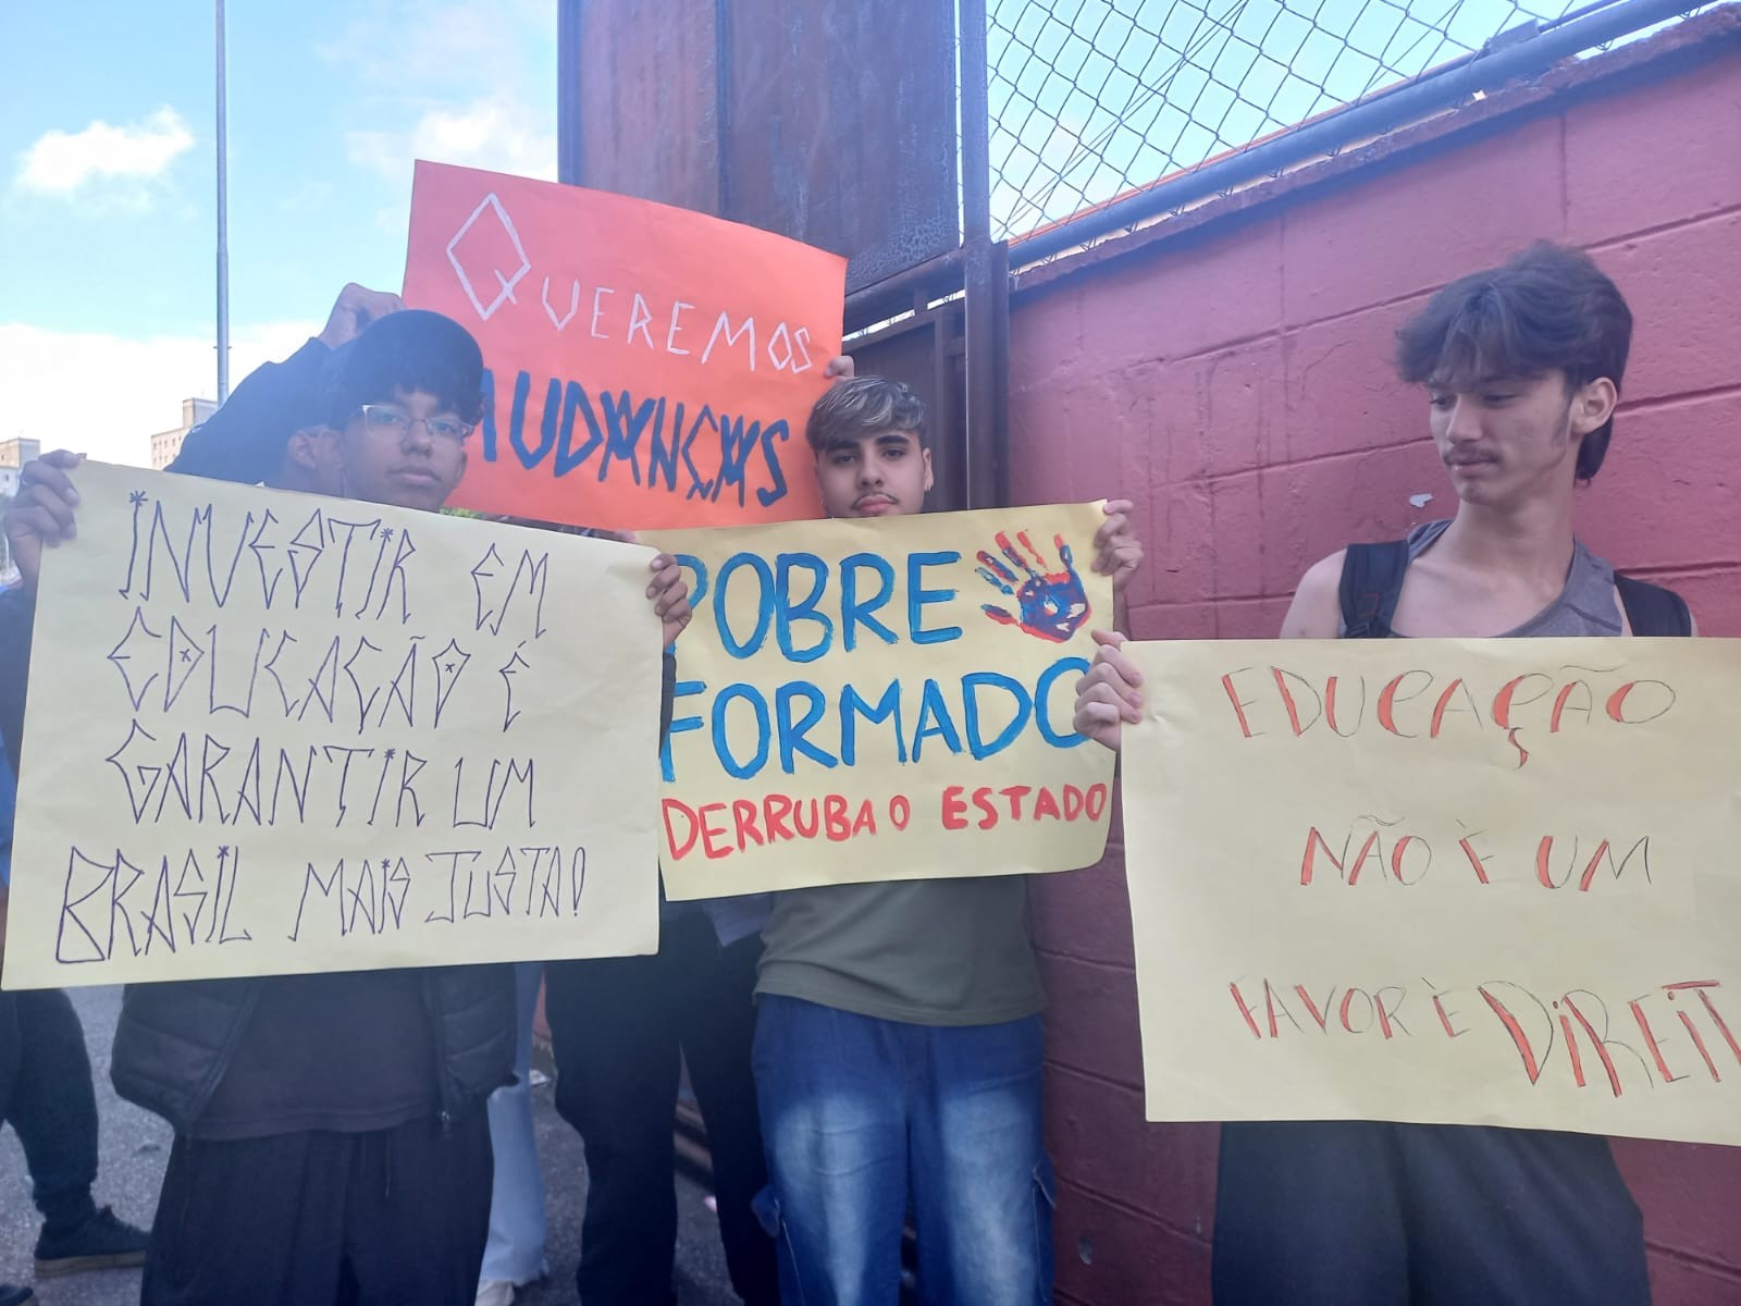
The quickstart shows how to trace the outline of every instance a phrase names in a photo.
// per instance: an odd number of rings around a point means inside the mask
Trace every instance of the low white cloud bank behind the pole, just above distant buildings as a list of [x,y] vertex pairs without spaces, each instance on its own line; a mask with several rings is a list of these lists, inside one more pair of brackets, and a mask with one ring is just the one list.
[[[286,359],[319,322],[263,322],[230,338],[230,383]],[[181,425],[181,401],[211,397],[218,367],[211,336],[131,340],[0,322],[0,439],[78,449],[110,463],[151,465],[151,435]]]

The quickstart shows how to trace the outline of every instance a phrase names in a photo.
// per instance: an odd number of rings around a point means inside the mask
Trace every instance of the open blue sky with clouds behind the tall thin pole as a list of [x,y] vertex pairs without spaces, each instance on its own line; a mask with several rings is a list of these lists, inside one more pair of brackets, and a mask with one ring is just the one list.
[[[0,439],[146,461],[216,387],[212,5],[10,3],[0,49]],[[555,174],[555,0],[237,0],[228,49],[232,380],[399,287],[414,157]]]

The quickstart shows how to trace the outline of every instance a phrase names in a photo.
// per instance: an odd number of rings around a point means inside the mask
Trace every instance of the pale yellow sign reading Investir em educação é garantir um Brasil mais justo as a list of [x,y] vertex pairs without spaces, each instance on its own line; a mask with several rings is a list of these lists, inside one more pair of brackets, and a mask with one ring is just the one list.
[[649,953],[651,552],[85,463],[9,987]]

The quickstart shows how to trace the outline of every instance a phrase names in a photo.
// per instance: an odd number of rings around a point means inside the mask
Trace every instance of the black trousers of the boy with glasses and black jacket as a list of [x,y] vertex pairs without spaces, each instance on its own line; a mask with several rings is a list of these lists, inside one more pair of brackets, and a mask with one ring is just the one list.
[[489,1236],[482,1109],[369,1134],[176,1135],[141,1306],[472,1306]]

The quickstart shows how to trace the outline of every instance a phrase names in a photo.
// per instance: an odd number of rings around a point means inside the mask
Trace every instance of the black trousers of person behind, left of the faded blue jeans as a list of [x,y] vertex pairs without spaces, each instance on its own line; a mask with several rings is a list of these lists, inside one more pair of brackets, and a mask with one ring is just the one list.
[[773,1240],[752,1210],[768,1182],[750,1074],[759,956],[759,939],[721,949],[712,923],[686,912],[663,923],[655,956],[545,966],[555,1106],[587,1146],[581,1306],[672,1301],[679,1050],[707,1121],[731,1287],[750,1306],[778,1303]]

